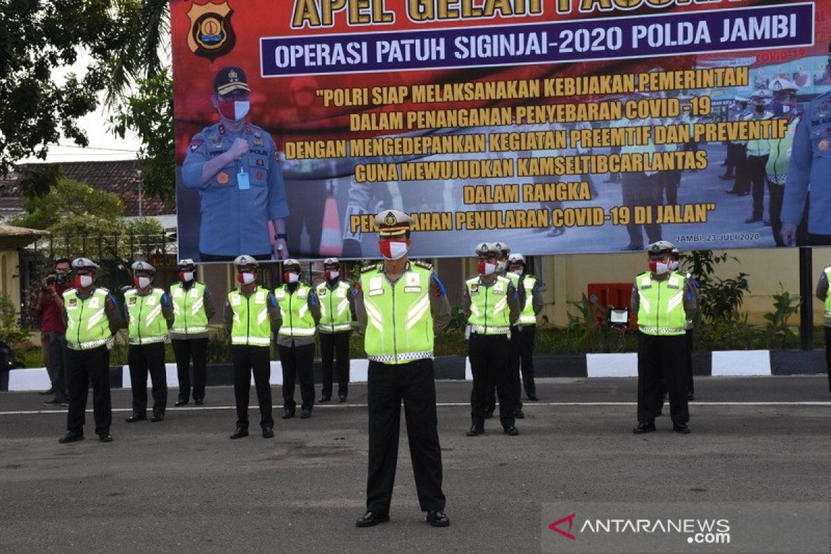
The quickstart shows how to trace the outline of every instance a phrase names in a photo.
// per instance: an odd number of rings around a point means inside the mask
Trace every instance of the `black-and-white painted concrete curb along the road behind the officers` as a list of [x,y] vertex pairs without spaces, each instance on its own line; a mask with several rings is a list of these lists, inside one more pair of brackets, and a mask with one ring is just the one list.
[[[367,360],[352,360],[351,382],[366,382]],[[178,387],[175,364],[167,364],[167,385]],[[825,351],[715,351],[693,354],[694,375],[758,376],[758,375],[824,375]],[[572,354],[535,355],[534,373],[538,377],[634,377],[637,376],[637,354]],[[320,361],[314,364],[315,383],[321,382]],[[471,380],[467,357],[441,356],[435,359],[435,378],[440,380]],[[8,385],[0,379],[0,390],[47,390],[49,375],[45,368],[11,370]],[[130,387],[130,370],[126,365],[110,368],[114,389]],[[233,385],[230,364],[209,364],[208,385]],[[252,380],[253,384],[253,380]],[[271,362],[271,384],[283,384],[279,361]]]

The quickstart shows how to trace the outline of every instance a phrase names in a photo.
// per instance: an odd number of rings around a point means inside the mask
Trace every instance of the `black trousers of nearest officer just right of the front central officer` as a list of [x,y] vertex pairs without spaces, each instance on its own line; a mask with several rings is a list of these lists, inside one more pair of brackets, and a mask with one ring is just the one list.
[[488,402],[488,380],[496,383],[499,394],[499,422],[503,427],[514,424],[514,408],[517,399],[511,386],[510,357],[507,335],[479,335],[471,333],[468,340],[470,372],[473,373],[473,390],[470,391],[470,419],[475,425],[484,425],[484,412]]

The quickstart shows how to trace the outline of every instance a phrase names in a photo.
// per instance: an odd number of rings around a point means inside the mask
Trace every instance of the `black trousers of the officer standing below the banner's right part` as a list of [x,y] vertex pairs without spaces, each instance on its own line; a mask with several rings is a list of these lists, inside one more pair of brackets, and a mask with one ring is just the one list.
[[664,384],[674,424],[686,424],[686,336],[637,334],[637,420],[653,421],[661,413]]

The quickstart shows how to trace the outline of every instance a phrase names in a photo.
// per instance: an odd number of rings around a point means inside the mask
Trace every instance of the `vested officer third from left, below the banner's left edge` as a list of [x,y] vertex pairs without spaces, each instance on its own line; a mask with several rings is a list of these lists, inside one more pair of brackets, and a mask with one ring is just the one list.
[[194,363],[194,403],[201,406],[205,397],[208,365],[208,321],[214,316],[214,301],[204,282],[196,280],[196,264],[179,260],[179,282],[170,286],[173,326],[170,342],[179,374],[177,406],[190,399],[190,361]]

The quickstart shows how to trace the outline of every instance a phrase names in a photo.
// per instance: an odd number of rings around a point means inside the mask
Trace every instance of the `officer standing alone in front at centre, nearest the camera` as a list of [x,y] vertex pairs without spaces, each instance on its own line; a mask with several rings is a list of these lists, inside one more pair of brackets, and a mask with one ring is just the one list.
[[441,491],[433,373],[433,339],[450,323],[450,304],[432,266],[407,259],[413,223],[406,213],[381,209],[375,226],[384,262],[366,267],[356,283],[355,311],[369,359],[366,513],[357,527],[390,521],[401,400],[419,506],[431,526],[450,525]]

